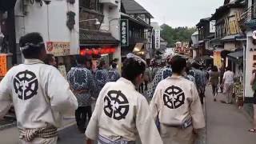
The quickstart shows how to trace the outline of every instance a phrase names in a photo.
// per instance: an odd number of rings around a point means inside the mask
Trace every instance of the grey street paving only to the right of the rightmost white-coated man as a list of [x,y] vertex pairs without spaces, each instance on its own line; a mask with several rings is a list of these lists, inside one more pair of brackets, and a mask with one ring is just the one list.
[[255,144],[256,134],[248,132],[252,126],[250,118],[235,105],[214,102],[210,87],[206,89],[206,143],[207,144]]

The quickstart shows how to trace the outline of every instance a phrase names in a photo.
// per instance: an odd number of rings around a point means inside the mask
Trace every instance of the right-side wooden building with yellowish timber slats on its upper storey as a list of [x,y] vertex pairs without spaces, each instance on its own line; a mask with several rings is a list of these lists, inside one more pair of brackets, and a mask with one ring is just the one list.
[[[245,10],[246,1],[225,1],[210,18],[216,21],[215,37],[209,43],[214,50],[214,64],[217,63],[219,67],[231,67],[236,77],[242,74],[242,64],[237,62],[237,59],[242,59],[246,41],[242,40],[243,33],[238,22]],[[234,58],[237,55],[239,57]]]

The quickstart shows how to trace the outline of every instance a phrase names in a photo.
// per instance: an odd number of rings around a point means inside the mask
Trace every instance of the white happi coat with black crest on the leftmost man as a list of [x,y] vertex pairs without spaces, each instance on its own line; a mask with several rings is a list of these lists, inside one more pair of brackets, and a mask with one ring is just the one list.
[[20,129],[61,126],[62,114],[76,110],[77,99],[62,74],[38,59],[14,66],[0,83],[0,118],[11,103]]

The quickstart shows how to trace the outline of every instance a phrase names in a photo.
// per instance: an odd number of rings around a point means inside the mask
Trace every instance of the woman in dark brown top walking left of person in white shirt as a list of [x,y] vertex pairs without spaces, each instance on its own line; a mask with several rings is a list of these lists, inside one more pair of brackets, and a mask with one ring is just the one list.
[[219,82],[219,72],[218,67],[213,66],[212,70],[210,71],[210,79],[209,82],[212,86],[213,94],[214,94],[214,101],[216,101],[216,97],[218,94],[218,82]]

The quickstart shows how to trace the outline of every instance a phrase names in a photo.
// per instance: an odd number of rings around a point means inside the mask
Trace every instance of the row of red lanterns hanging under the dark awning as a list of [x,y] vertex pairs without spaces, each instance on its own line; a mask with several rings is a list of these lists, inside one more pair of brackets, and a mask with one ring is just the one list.
[[81,48],[80,54],[81,55],[99,55],[99,54],[113,54],[115,52],[114,47],[110,48],[98,48],[98,49],[88,49],[88,48]]

